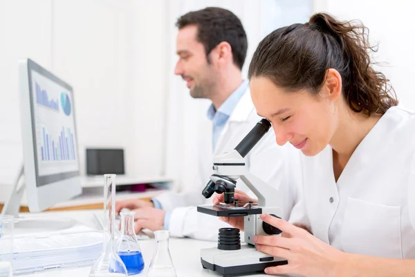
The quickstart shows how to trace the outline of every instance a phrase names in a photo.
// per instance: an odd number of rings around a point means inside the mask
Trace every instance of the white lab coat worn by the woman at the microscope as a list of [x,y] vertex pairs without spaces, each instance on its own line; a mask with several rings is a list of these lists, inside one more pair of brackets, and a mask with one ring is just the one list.
[[390,108],[337,183],[330,146],[301,163],[301,201],[291,222],[348,253],[415,258],[414,111]]

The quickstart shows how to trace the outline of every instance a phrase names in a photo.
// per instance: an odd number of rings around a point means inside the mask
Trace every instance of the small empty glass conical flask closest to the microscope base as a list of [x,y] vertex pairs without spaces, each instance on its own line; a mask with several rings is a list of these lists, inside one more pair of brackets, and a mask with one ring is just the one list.
[[151,258],[147,277],[176,277],[172,256],[169,251],[169,231],[155,231],[156,251]]

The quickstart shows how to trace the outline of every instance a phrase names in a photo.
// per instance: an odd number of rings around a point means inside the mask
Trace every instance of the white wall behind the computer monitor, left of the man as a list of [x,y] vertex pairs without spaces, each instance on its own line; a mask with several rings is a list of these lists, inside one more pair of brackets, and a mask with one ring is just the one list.
[[127,173],[164,174],[163,3],[0,1],[0,184],[21,163],[17,60],[25,57],[73,85],[82,172],[85,148],[120,147]]

